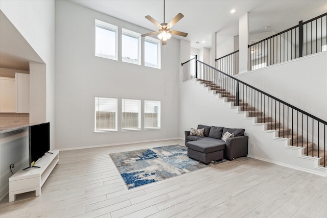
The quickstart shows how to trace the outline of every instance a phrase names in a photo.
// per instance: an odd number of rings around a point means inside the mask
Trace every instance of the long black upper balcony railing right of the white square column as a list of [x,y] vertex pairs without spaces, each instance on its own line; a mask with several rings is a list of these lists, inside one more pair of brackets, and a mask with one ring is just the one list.
[[323,51],[327,13],[249,45],[250,70]]

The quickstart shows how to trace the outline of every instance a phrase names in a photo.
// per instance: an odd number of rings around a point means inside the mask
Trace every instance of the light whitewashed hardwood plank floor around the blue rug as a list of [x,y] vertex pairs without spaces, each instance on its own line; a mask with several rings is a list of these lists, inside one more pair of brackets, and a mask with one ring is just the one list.
[[0,217],[327,217],[327,179],[249,157],[128,190],[109,153],[167,140],[60,152],[41,189],[0,202]]

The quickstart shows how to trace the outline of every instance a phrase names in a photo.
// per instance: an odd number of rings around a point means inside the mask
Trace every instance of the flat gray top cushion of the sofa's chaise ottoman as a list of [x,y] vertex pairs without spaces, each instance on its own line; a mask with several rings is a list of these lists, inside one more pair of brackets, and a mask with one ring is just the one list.
[[186,146],[189,149],[194,151],[202,152],[202,153],[211,153],[216,151],[221,151],[226,149],[226,143],[224,141],[205,141],[205,140],[197,140],[197,141],[189,141],[186,143]]

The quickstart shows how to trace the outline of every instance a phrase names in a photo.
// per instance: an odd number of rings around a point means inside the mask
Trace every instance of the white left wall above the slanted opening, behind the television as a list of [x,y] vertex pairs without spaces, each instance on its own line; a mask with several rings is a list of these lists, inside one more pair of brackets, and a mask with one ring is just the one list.
[[[42,122],[50,122],[54,126],[55,1],[2,0],[0,1],[0,9],[46,64],[43,71],[46,78],[46,89],[44,90],[44,86],[34,87],[34,91],[31,91],[30,94],[31,99],[33,99],[38,92],[46,93],[44,107],[38,108],[38,110],[42,110],[42,113],[46,114],[46,120],[42,120]],[[29,59],[29,57],[26,58]],[[32,74],[31,70],[30,74]],[[33,83],[33,77],[30,80]],[[44,101],[44,99],[38,101]],[[30,118],[32,120],[34,119],[33,114],[36,112],[31,111]],[[51,148],[54,147],[55,132],[54,128],[51,128]]]

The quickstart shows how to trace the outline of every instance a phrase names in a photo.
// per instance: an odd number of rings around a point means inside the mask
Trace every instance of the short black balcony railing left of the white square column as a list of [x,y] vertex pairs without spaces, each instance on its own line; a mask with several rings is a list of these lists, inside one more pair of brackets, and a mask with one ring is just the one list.
[[239,74],[239,50],[216,59],[216,68],[230,76]]

